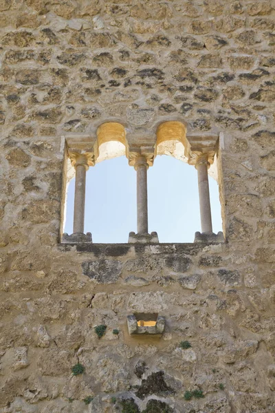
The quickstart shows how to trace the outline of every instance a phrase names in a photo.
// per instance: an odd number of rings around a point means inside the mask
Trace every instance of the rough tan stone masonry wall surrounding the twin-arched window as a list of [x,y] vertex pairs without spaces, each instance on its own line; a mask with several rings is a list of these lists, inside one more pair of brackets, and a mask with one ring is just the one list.
[[[272,30],[272,0],[0,0],[1,412],[274,412]],[[62,136],[172,118],[224,134],[227,243],[59,245]]]

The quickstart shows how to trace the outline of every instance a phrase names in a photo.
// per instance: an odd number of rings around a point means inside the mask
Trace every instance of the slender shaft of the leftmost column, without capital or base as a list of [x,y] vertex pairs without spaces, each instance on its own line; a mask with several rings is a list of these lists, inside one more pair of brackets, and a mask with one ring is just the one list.
[[74,233],[84,233],[86,166],[76,164],[74,190]]

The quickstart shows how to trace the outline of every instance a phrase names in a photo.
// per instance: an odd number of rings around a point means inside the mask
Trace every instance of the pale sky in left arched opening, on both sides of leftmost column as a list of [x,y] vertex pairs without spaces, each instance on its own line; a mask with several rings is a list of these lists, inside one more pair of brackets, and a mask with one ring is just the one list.
[[[69,182],[65,232],[72,233],[75,178]],[[127,242],[136,225],[135,170],[125,156],[104,160],[87,171],[84,232],[95,243]]]

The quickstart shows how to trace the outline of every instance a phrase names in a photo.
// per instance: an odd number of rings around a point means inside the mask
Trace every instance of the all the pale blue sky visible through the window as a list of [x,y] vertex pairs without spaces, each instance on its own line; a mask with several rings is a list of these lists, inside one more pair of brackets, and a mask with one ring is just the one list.
[[[213,231],[222,230],[217,182],[209,177]],[[72,233],[74,179],[69,182],[65,232]],[[195,167],[157,156],[148,169],[149,232],[157,231],[159,242],[193,242],[201,231],[199,193]],[[104,160],[87,171],[85,233],[93,242],[128,242],[136,232],[136,172],[125,156]]]

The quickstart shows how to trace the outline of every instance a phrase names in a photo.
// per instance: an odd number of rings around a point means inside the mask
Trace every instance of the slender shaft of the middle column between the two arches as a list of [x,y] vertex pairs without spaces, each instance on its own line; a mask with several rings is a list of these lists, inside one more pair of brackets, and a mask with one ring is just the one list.
[[148,233],[148,202],[147,202],[147,162],[146,158],[137,158],[137,233]]

